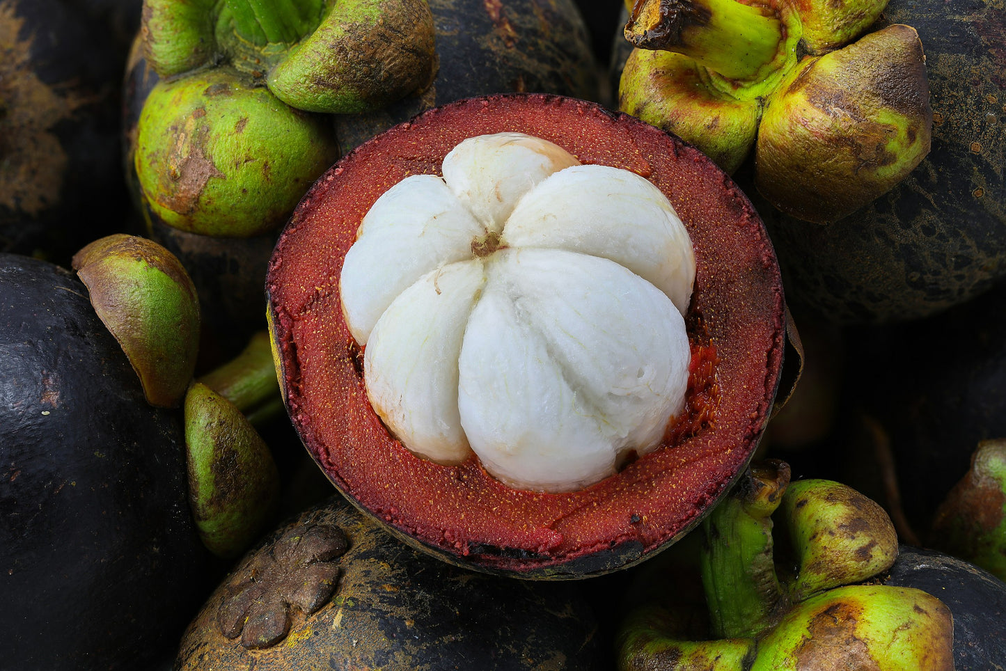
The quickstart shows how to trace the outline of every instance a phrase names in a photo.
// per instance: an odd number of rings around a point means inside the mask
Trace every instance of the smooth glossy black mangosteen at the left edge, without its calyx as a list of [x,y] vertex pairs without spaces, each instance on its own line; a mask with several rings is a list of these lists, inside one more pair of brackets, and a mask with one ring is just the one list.
[[0,255],[0,668],[143,668],[207,588],[180,416],[46,262]]

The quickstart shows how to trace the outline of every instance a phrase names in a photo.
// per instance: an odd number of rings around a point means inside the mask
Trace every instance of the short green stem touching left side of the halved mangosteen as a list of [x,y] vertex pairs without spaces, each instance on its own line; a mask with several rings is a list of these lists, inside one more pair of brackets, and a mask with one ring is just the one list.
[[[199,378],[199,381],[237,406],[253,424],[276,415],[282,406],[269,334],[260,331],[236,357]],[[274,409],[270,409],[274,408]]]

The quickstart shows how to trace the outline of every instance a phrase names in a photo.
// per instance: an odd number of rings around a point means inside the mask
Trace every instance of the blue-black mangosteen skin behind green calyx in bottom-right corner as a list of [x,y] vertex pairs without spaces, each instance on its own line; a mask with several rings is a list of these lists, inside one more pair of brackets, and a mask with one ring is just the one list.
[[957,671],[1006,667],[1006,582],[948,554],[901,545],[884,583],[921,590],[950,609]]

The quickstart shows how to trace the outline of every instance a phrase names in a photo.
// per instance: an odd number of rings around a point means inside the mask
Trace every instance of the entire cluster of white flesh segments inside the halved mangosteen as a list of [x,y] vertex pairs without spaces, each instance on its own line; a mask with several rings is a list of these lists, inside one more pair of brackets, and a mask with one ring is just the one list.
[[474,451],[517,488],[578,489],[656,449],[684,404],[695,273],[667,198],[520,134],[443,169],[378,198],[345,258],[375,411],[414,453]]

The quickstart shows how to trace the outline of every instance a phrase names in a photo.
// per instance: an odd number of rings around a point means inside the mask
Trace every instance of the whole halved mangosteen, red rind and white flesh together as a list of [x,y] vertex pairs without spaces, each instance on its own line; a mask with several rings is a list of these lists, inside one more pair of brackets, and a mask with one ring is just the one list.
[[361,145],[298,206],[267,290],[322,471],[490,572],[595,575],[679,538],[743,471],[781,378],[783,293],[744,195],[568,98],[469,99]]

